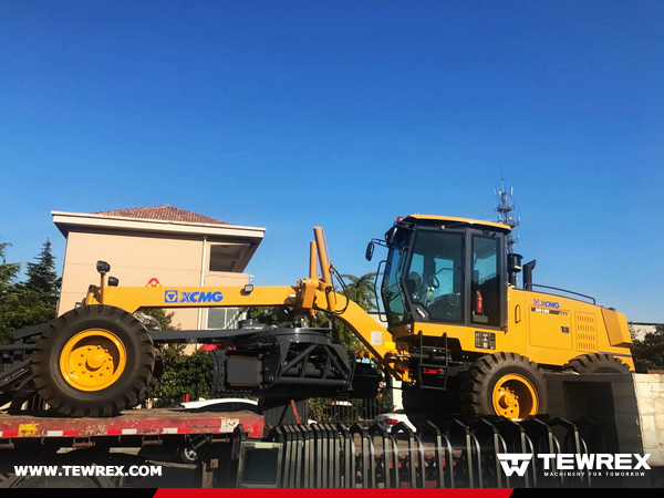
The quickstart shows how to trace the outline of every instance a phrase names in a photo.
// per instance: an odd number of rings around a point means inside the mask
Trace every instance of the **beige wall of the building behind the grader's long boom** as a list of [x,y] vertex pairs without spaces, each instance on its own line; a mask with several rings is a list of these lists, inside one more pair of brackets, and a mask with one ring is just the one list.
[[[205,286],[243,286],[249,282],[247,273],[210,272],[209,247],[214,243],[231,243],[215,240],[206,243],[204,271]],[[117,231],[113,234],[70,231],[68,236],[62,274],[62,292],[59,314],[74,308],[85,298],[87,286],[98,284],[96,261],[111,264],[110,274],[120,280],[121,287],[143,287],[152,278],[162,286],[200,286],[203,236],[174,237],[172,235]],[[173,323],[181,329],[197,329],[198,309],[173,310]],[[207,313],[203,310],[201,328],[206,328]]]

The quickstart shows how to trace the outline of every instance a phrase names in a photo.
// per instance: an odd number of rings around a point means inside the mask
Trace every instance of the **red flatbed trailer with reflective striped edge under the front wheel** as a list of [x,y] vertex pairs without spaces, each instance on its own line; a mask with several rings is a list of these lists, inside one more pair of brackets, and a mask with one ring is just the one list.
[[[133,409],[110,418],[66,418],[49,411],[0,414],[0,488],[133,487],[152,471],[145,469],[159,464],[141,457],[144,449],[174,459],[183,448],[200,456],[193,486],[209,486],[212,474],[220,485],[234,486],[235,473],[228,465],[234,450],[237,454],[240,442],[260,440],[263,433],[263,416],[248,411]],[[21,478],[15,466],[48,466],[58,471]],[[93,466],[104,470],[95,473]],[[86,470],[72,475],[73,467]],[[128,475],[131,467],[142,467],[145,474]],[[220,475],[219,468],[229,471]]]

